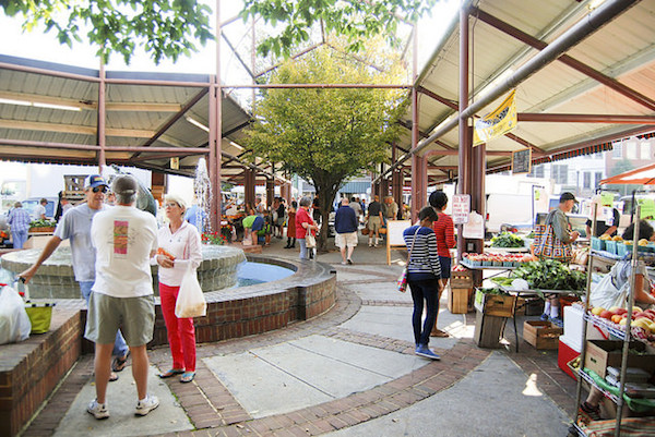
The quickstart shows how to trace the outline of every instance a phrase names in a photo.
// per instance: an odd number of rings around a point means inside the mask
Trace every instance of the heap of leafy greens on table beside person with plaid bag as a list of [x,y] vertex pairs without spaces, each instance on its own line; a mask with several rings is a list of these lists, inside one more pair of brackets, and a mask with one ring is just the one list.
[[553,259],[525,263],[512,271],[512,278],[525,279],[533,290],[584,290],[586,277],[580,270]]

